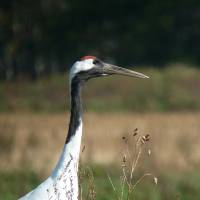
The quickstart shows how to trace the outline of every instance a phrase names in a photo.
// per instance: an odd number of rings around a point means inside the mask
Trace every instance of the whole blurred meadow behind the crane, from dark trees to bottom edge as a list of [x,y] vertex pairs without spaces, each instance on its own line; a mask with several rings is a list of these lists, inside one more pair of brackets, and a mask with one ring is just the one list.
[[[145,173],[152,176],[143,179],[129,199],[197,200],[199,70],[177,64],[138,71],[151,79],[105,77],[83,89],[83,200],[117,199],[121,194],[127,147],[135,155],[135,140],[126,139],[136,129],[136,137],[150,135],[150,140],[142,150],[133,182]],[[0,83],[0,200],[17,199],[54,168],[69,123],[66,78],[58,75],[36,82]],[[123,199],[126,197],[127,188]]]

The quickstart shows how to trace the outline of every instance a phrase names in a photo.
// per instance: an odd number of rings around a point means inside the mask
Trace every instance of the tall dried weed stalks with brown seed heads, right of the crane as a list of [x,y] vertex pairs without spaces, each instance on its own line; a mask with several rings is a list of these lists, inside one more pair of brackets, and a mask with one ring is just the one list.
[[[134,172],[141,161],[141,154],[150,140],[150,135],[146,134],[140,136],[138,134],[138,129],[136,128],[133,133],[128,136],[122,137],[124,143],[124,152],[122,155],[121,161],[121,181],[120,181],[120,190],[116,190],[116,187],[112,181],[112,178],[109,174],[108,180],[112,186],[112,189],[115,193],[117,200],[130,200],[131,195],[133,194],[136,186],[141,183],[141,181],[150,176],[153,178],[155,184],[158,183],[158,179],[154,177],[151,173],[144,173],[140,178],[134,179]],[[148,150],[148,155],[151,155],[151,150]]]

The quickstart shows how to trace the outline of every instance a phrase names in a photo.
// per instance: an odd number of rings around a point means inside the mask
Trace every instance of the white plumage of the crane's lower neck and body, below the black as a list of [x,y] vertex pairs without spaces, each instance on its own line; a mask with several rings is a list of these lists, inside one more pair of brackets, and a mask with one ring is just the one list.
[[78,199],[78,162],[82,136],[82,122],[71,141],[64,146],[59,162],[43,183],[20,200],[76,200]]

